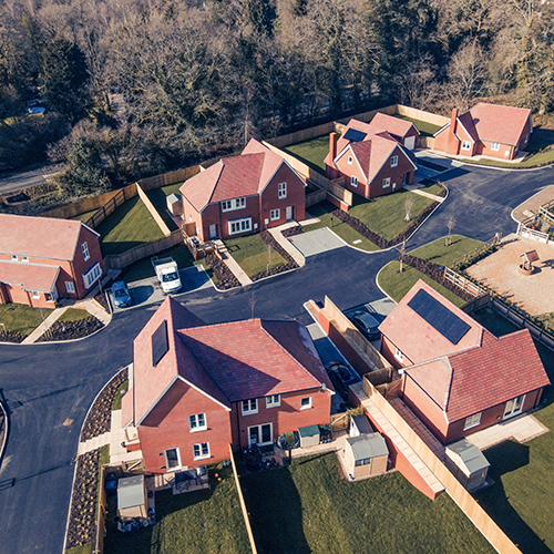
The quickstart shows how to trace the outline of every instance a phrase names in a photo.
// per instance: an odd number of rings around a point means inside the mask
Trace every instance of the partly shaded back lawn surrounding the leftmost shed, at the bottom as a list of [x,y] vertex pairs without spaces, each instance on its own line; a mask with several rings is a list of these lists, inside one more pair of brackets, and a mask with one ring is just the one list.
[[[243,512],[230,468],[211,471],[211,490],[173,495],[156,493],[156,524],[138,535],[117,532],[112,517],[116,501],[109,497],[104,554],[245,554],[250,552]],[[268,506],[265,506],[268,510]],[[261,554],[261,553],[260,553]]]

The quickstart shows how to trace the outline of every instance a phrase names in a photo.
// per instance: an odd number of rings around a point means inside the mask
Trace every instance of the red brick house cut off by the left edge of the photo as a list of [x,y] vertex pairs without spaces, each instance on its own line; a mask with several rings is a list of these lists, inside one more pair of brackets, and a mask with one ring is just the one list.
[[0,214],[0,302],[86,296],[103,273],[99,236],[76,220]]

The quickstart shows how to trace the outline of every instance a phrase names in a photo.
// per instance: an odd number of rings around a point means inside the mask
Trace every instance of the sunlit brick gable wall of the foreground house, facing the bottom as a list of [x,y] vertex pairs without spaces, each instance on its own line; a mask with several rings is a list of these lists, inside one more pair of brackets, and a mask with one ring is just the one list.
[[[206,431],[191,432],[188,416],[206,414]],[[217,463],[229,456],[229,412],[219,403],[177,380],[138,427],[147,473],[165,473],[164,450],[178,448],[182,466]],[[208,442],[211,456],[194,460],[193,444]],[[162,455],[160,455],[162,454]]]

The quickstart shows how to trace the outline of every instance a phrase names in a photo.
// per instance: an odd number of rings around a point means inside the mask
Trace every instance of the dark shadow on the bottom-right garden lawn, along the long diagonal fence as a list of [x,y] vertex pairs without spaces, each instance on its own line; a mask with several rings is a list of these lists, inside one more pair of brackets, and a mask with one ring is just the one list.
[[489,476],[494,484],[475,494],[481,507],[494,520],[523,554],[552,554],[536,533],[525,523],[510,503],[502,484],[502,476],[529,464],[529,447],[515,441],[504,441],[488,449],[484,454],[491,468]]

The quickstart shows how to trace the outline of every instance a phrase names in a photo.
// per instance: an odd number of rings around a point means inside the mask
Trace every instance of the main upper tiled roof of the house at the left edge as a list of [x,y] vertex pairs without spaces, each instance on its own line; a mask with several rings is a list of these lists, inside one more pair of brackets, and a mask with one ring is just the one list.
[[0,214],[0,253],[73,259],[82,227],[71,219]]

